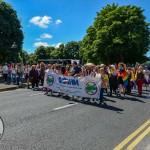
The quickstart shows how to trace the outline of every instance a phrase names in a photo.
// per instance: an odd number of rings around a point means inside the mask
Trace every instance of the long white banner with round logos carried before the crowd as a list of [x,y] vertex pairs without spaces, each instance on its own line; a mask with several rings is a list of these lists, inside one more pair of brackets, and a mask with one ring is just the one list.
[[98,99],[101,80],[92,77],[72,77],[46,73],[44,87],[68,95]]

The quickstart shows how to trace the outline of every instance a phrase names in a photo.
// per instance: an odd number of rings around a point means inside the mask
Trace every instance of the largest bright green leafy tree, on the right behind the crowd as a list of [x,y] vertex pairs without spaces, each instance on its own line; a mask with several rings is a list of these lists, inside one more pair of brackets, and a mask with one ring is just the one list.
[[137,6],[107,5],[94,20],[82,41],[80,54],[87,61],[106,64],[145,61],[149,50],[149,23]]

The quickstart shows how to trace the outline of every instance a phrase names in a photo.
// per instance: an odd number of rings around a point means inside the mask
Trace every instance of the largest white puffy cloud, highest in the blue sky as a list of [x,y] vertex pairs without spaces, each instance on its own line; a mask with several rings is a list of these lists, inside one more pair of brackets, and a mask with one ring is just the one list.
[[51,20],[52,20],[51,16],[44,16],[44,17],[35,16],[32,19],[30,19],[30,22],[41,28],[48,28],[48,24],[52,22]]

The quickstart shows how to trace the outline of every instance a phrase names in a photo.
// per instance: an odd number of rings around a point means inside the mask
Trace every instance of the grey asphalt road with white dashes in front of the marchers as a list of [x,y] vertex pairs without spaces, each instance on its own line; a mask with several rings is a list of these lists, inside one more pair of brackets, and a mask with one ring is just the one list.
[[[150,119],[150,91],[143,98],[106,99],[100,108],[28,89],[2,92],[0,150],[112,150]],[[147,135],[136,149],[149,150],[149,141]]]

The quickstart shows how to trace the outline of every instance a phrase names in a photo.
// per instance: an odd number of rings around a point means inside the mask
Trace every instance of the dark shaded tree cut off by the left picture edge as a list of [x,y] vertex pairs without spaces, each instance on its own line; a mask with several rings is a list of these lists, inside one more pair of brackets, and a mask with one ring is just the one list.
[[[17,12],[5,2],[0,4],[0,63],[18,61],[22,50],[23,32]],[[13,43],[17,47],[12,48]]]

